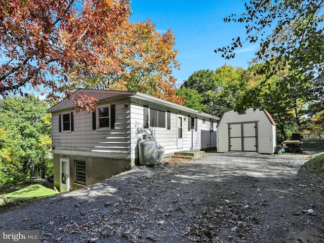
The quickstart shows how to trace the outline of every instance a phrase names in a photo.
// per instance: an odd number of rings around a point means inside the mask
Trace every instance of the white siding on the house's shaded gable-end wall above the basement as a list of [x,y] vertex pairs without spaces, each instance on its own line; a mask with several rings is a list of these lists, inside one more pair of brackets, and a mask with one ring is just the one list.
[[123,103],[115,105],[115,128],[92,130],[92,113],[74,115],[74,132],[58,132],[58,114],[53,114],[53,153],[130,158],[130,111]]

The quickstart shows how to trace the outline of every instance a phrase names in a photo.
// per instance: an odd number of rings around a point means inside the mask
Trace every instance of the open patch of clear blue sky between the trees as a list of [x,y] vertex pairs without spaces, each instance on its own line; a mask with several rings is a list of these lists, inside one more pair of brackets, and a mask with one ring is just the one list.
[[132,0],[131,21],[152,20],[155,29],[164,33],[172,29],[176,37],[175,49],[179,50],[181,70],[174,70],[178,84],[197,70],[215,70],[225,63],[248,67],[254,57],[257,44],[246,43],[237,49],[235,58],[226,60],[215,49],[228,46],[232,38],[245,35],[245,25],[225,23],[224,18],[244,12],[244,1],[240,0]]

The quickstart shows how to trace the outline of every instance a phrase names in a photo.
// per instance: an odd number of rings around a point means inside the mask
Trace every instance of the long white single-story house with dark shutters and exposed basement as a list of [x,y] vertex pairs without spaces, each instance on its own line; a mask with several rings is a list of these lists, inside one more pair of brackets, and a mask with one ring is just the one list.
[[138,163],[138,142],[152,134],[164,154],[216,148],[218,117],[138,92],[86,90],[96,112],[73,114],[65,99],[52,113],[54,186],[60,191],[91,185]]

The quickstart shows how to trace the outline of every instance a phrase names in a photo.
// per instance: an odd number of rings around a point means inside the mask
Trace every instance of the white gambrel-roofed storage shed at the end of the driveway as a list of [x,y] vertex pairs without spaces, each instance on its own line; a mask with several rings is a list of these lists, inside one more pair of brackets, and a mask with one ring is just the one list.
[[217,151],[273,153],[276,126],[266,110],[249,108],[224,112],[217,124]]

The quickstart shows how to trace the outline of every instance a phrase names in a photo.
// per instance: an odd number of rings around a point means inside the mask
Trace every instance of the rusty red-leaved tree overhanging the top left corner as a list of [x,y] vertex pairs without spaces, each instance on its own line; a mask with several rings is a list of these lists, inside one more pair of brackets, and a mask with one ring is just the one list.
[[113,32],[129,16],[128,2],[89,0],[82,4],[83,8],[73,0],[1,2],[0,45],[6,60],[0,66],[1,95],[23,94],[23,88],[68,94],[63,84],[69,73],[94,68],[104,72],[117,66],[114,44],[102,48],[106,37],[102,33]]

